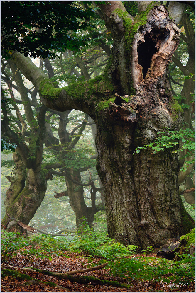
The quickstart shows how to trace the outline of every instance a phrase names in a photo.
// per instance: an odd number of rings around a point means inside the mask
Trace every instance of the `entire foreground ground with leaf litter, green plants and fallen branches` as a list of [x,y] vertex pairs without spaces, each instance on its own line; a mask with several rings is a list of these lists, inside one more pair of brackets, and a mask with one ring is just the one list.
[[[6,233],[8,235],[14,234]],[[1,291],[195,291],[193,257],[185,255],[184,259],[174,262],[157,257],[152,248],[144,254],[134,250],[107,237],[104,243],[103,239],[94,239],[93,243],[92,235],[78,235],[75,241],[43,234],[6,238],[2,242]],[[99,270],[63,275],[105,262],[108,265]]]

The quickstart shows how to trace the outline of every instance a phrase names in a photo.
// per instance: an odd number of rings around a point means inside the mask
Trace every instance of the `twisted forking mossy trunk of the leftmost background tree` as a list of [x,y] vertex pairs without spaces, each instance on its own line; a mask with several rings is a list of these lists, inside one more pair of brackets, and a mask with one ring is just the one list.
[[[6,121],[6,110],[4,109],[5,120],[2,122],[2,129],[9,139],[17,144],[17,152],[13,153],[13,159],[16,163],[14,173],[16,175],[11,178],[11,186],[6,193],[5,207],[11,218],[18,219],[26,225],[28,225],[36,213],[47,189],[48,171],[44,171],[41,168],[46,109],[44,105],[40,108],[38,117],[39,127],[34,125],[28,147],[9,128],[8,123],[6,124],[8,121]],[[8,219],[9,217],[6,214],[2,224]]]

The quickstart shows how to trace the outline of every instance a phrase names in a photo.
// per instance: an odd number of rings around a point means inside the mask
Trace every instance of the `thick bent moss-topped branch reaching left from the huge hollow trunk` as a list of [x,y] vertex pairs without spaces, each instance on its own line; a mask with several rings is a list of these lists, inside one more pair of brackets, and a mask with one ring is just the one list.
[[[88,82],[79,82],[77,84],[71,83],[63,88],[54,88],[54,85],[48,79],[48,76],[44,74],[43,71],[38,69],[38,67],[36,67],[30,58],[25,58],[18,52],[13,52],[11,58],[22,74],[34,84],[36,90],[41,96],[43,103],[50,109],[62,112],[76,109],[92,116],[94,115],[94,107],[97,105],[97,101],[92,100],[92,85],[94,87],[94,95],[96,95],[97,98],[99,97],[97,91],[102,92],[101,99],[103,99],[104,96],[108,99],[109,93],[111,92],[111,89],[108,92],[105,86],[104,91],[101,87],[97,89],[96,84],[99,84],[100,79],[89,80]],[[88,85],[91,85],[91,93],[88,90]],[[82,99],[85,98],[85,100],[82,101],[81,97]]]

